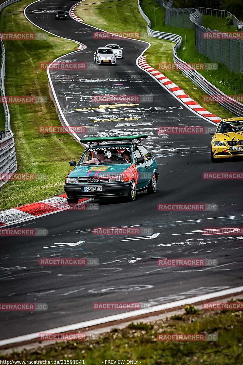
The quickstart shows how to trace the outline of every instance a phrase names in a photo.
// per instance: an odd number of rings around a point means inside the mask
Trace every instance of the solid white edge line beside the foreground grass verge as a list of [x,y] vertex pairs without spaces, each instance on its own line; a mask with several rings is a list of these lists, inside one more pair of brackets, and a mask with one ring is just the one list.
[[13,343],[20,343],[20,342],[24,342],[24,341],[31,341],[33,339],[38,339],[39,333],[43,333],[43,332],[45,332],[45,333],[64,333],[64,332],[68,332],[68,331],[78,330],[79,328],[97,326],[98,324],[105,324],[105,323],[114,322],[114,321],[118,321],[118,320],[122,320],[122,319],[126,319],[126,318],[145,315],[148,313],[159,312],[159,311],[163,311],[163,310],[173,309],[176,307],[182,307],[187,304],[198,303],[200,301],[210,300],[215,297],[223,297],[223,296],[226,297],[226,296],[233,295],[233,294],[240,293],[240,292],[243,292],[243,286],[225,289],[225,290],[222,290],[219,292],[203,294],[203,295],[199,295],[196,297],[191,297],[191,298],[187,298],[187,299],[183,299],[183,300],[176,300],[171,303],[160,304],[160,305],[154,306],[152,308],[146,308],[146,309],[140,309],[140,310],[132,311],[132,312],[115,314],[115,315],[108,316],[108,317],[97,318],[97,319],[93,319],[93,320],[87,320],[85,322],[69,324],[67,326],[50,328],[48,330],[42,330],[39,332],[30,333],[30,334],[23,335],[23,336],[7,338],[7,339],[0,341],[0,346],[6,346],[6,345],[13,344]]

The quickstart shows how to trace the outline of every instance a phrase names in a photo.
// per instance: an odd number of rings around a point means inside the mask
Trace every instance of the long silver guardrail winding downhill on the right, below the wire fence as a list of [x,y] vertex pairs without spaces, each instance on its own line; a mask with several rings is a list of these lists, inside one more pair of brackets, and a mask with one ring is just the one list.
[[[236,100],[230,100],[230,97],[224,94],[222,91],[216,88],[211,82],[209,82],[205,77],[203,77],[199,72],[195,69],[191,68],[186,62],[180,59],[177,55],[177,50],[181,46],[182,37],[178,34],[173,33],[165,33],[160,31],[154,31],[150,28],[150,20],[148,16],[144,14],[142,8],[140,6],[140,0],[138,0],[138,9],[142,17],[148,23],[148,34],[151,37],[166,39],[168,41],[175,42],[175,46],[173,47],[173,60],[175,65],[181,70],[181,72],[186,75],[194,84],[200,87],[207,95],[212,97],[221,98],[222,101],[217,101],[220,105],[226,108],[228,111],[235,115],[243,116],[243,104],[239,103]],[[195,13],[192,13],[195,14]],[[229,101],[227,101],[229,100]]]

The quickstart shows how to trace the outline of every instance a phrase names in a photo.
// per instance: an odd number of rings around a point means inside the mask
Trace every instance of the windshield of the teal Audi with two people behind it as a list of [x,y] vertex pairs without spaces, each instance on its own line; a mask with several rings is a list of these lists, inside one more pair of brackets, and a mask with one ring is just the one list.
[[83,165],[131,164],[131,148],[126,146],[90,147],[78,162]]

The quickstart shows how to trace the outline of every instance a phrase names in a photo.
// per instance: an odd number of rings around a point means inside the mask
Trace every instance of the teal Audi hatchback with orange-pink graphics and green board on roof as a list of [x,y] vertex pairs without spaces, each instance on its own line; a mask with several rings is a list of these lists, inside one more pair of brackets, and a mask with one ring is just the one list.
[[67,202],[78,203],[81,198],[123,196],[136,199],[138,191],[156,193],[158,165],[153,155],[142,144],[147,135],[121,137],[89,137],[89,143],[78,164],[67,175],[64,191]]

